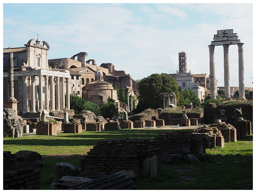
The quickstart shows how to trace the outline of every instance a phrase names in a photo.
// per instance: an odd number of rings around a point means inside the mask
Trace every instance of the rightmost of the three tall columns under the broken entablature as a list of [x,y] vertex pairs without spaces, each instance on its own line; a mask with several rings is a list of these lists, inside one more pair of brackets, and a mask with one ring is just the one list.
[[239,80],[239,97],[245,99],[244,96],[244,43],[238,45],[238,80]]

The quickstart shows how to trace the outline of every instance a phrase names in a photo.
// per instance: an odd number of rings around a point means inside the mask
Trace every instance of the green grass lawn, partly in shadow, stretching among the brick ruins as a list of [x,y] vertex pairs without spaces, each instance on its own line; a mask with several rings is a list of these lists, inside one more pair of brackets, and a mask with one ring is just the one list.
[[[187,129],[186,129],[187,130]],[[67,162],[80,167],[80,160],[101,139],[146,138],[153,141],[160,132],[170,130],[121,129],[81,134],[57,133],[57,136],[23,135],[22,138],[3,138],[3,151],[16,153],[30,150],[40,153],[41,190],[50,190],[55,164]],[[224,148],[206,149],[211,162],[198,164],[163,164],[163,173],[153,179],[136,181],[138,190],[252,190],[253,135],[237,142],[225,143]]]

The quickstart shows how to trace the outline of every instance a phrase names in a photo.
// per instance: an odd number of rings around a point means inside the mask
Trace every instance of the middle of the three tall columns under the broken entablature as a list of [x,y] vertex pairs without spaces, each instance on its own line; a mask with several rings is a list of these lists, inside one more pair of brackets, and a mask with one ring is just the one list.
[[229,87],[229,44],[223,45],[224,50],[224,90],[225,96],[230,97]]

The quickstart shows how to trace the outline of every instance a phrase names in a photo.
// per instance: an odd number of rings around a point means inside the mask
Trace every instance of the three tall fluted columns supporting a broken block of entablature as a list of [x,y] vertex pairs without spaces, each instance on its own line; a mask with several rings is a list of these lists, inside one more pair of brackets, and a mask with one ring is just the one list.
[[[244,96],[244,43],[238,45],[238,78],[239,78],[239,97]],[[217,96],[217,85],[215,82],[215,64],[214,64],[214,45],[209,45],[210,54],[210,87],[211,98]],[[230,97],[230,85],[229,85],[229,44],[223,45],[224,49],[224,90],[226,97]]]

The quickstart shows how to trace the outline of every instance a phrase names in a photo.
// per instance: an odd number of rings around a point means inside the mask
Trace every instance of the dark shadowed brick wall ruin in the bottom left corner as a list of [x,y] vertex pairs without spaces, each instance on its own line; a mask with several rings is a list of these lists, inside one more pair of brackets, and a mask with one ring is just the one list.
[[[23,161],[22,161],[23,160]],[[41,171],[34,170],[33,167],[23,168],[20,166],[20,169],[13,169],[6,171],[6,166],[22,164],[24,158],[17,158],[15,154],[11,152],[3,152],[3,190],[21,190],[23,187],[25,190],[40,190],[40,177]]]

